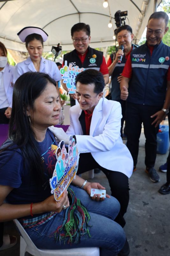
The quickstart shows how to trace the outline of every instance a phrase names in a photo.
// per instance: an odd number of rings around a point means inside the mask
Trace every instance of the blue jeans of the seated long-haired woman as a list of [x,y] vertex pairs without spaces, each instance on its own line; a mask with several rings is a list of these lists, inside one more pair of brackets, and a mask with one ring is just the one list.
[[125,242],[123,228],[117,224],[116,218],[120,204],[116,198],[105,198],[103,202],[91,200],[90,196],[83,189],[70,186],[77,198],[87,208],[91,219],[89,220],[89,232],[91,237],[82,236],[78,244],[64,244],[64,241],[56,242],[54,231],[62,225],[64,210],[56,214],[53,219],[45,224],[26,228],[26,232],[33,243],[42,249],[69,249],[77,247],[100,247],[101,256],[113,256],[122,249]]

